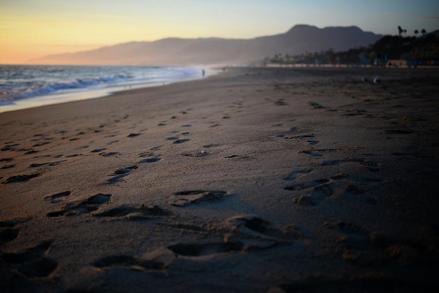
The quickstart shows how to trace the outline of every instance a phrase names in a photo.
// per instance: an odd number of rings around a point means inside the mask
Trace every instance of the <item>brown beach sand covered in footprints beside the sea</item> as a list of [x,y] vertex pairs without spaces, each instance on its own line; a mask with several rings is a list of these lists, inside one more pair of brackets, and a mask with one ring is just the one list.
[[438,78],[227,68],[1,113],[0,292],[438,289]]

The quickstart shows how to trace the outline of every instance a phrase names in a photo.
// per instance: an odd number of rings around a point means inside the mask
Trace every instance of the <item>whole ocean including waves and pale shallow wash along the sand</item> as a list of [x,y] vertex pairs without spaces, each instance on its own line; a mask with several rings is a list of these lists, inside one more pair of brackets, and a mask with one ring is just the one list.
[[200,66],[0,65],[0,112],[99,98],[215,74]]

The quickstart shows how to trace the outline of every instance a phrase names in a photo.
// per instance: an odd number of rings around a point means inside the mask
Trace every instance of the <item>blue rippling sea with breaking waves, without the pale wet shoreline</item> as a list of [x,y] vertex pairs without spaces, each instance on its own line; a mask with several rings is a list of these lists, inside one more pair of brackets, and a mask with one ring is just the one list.
[[194,67],[0,66],[0,105],[66,90],[164,82],[197,74]]

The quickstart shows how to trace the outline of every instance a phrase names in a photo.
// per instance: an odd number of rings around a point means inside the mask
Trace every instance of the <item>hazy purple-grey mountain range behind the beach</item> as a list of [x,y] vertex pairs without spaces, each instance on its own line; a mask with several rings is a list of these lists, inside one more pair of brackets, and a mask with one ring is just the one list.
[[127,42],[95,50],[50,55],[38,64],[190,65],[244,64],[275,54],[297,55],[332,48],[342,51],[367,46],[382,37],[357,26],[325,27],[299,24],[286,33],[254,39],[166,38]]

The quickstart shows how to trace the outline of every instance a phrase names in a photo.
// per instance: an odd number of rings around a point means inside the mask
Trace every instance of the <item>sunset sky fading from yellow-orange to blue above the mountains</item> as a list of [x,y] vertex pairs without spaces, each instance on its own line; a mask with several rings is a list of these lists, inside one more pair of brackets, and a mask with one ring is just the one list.
[[438,0],[0,0],[0,64],[167,37],[250,39],[295,24],[439,29]]

